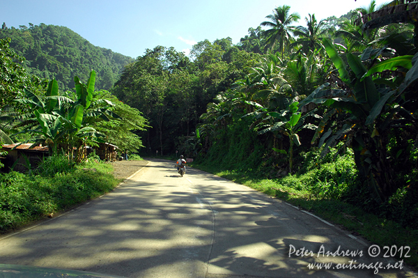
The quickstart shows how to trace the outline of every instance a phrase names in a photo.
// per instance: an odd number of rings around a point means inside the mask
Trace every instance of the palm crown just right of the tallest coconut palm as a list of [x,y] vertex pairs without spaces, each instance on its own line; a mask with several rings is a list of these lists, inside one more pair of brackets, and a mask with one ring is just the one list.
[[323,28],[325,20],[317,22],[314,14],[309,14],[309,19],[305,17],[305,20],[307,21],[307,27],[297,26],[293,31],[293,34],[299,38],[291,44],[291,47],[301,45],[302,47],[298,52],[309,55],[309,52],[314,52],[315,49],[324,49],[322,38],[327,34],[327,29]]

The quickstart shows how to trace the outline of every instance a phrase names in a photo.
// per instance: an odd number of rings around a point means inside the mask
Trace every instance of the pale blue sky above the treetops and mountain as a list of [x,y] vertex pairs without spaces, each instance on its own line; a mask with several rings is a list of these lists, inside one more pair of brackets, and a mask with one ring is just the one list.
[[[379,4],[387,1],[376,0]],[[0,24],[19,28],[40,23],[66,26],[93,45],[132,58],[157,45],[177,51],[194,43],[231,37],[233,43],[272,14],[277,6],[291,6],[291,13],[318,20],[369,6],[370,0],[0,0]]]

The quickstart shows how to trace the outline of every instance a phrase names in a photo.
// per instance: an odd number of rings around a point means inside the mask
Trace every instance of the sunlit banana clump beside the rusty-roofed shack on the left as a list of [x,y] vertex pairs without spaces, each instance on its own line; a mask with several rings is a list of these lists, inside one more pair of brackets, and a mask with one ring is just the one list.
[[[30,91],[25,91],[26,98],[16,100],[33,109],[32,120],[36,125],[26,128],[25,132],[37,134],[36,143],[45,142],[52,154],[57,153],[59,144],[68,146],[68,151],[76,146],[77,153],[84,153],[87,140],[102,141],[103,137],[91,125],[98,118],[109,121],[109,117],[120,118],[109,110],[113,104],[109,100],[93,100],[95,72],[92,70],[87,84],[82,84],[75,77],[77,100],[59,95],[56,80],[49,82],[44,100]],[[30,119],[29,117],[26,117]],[[73,157],[72,153],[68,153]],[[77,156],[77,161],[81,160]]]

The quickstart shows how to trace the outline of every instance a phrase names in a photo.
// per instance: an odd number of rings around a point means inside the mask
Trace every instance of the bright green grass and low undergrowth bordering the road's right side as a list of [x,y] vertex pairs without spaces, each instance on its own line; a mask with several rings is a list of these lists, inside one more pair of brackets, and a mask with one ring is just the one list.
[[[359,187],[353,157],[348,155],[336,162],[325,159],[323,164],[318,164],[315,155],[306,154],[306,165],[298,173],[282,178],[266,178],[271,170],[223,170],[219,167],[220,163],[202,160],[195,161],[191,166],[314,213],[353,235],[361,235],[382,250],[385,246],[390,248],[395,245],[398,249],[408,246],[410,257],[398,259],[418,268],[418,219],[409,222],[409,225],[402,225],[399,219],[393,219],[396,215],[392,215],[391,219],[385,217],[385,212],[367,211],[365,208],[372,206],[367,203],[366,192],[361,192]],[[396,254],[399,255],[400,252]]]

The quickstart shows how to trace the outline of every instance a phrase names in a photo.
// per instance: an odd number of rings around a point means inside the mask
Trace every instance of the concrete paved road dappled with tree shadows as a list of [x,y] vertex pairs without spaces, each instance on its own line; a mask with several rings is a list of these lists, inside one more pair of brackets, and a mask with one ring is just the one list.
[[[326,252],[333,254],[318,257]],[[313,215],[196,169],[181,178],[167,160],[150,160],[114,192],[0,239],[0,263],[124,277],[412,276],[405,268],[354,269],[401,266],[367,252],[362,240]]]

